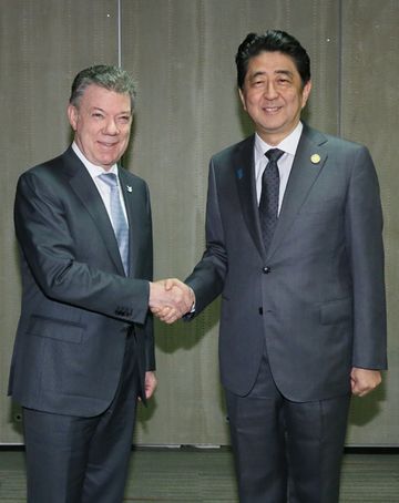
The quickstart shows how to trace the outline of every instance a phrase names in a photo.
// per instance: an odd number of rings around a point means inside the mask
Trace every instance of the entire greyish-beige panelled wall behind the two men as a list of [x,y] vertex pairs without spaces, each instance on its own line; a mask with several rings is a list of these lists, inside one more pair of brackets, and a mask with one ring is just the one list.
[[[379,172],[391,371],[374,396],[354,401],[348,443],[398,444],[393,89],[399,2],[0,0],[0,144],[6,160],[0,188],[0,443],[21,442],[18,409],[4,397],[20,296],[13,192],[22,171],[68,145],[64,110],[73,75],[86,65],[117,64],[121,59],[139,80],[134,137],[125,165],[150,184],[156,276],[184,277],[204,246],[208,158],[250,131],[236,96],[236,49],[249,31],[282,28],[310,53],[314,90],[308,122],[366,143]],[[151,407],[141,411],[136,442],[228,443],[218,384],[217,319],[216,301],[193,324],[156,325],[160,387]]]

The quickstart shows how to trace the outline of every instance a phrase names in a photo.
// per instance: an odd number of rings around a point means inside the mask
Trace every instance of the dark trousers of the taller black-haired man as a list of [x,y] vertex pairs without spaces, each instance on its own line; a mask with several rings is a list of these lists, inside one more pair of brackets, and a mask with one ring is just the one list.
[[338,503],[349,396],[289,401],[264,357],[252,392],[226,400],[241,503]]

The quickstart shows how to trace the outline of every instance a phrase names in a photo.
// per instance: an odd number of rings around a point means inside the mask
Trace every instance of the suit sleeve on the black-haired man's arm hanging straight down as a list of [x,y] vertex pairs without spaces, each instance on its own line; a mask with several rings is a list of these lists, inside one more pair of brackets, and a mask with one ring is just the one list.
[[356,154],[348,188],[346,234],[352,273],[352,366],[387,368],[382,211],[376,170],[366,147]]

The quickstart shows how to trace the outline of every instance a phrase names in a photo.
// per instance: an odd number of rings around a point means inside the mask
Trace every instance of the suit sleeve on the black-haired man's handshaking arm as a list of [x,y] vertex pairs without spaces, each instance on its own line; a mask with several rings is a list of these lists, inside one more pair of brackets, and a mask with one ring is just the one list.
[[228,268],[213,161],[209,166],[205,232],[205,253],[185,280],[195,292],[195,314],[201,312],[222,292]]

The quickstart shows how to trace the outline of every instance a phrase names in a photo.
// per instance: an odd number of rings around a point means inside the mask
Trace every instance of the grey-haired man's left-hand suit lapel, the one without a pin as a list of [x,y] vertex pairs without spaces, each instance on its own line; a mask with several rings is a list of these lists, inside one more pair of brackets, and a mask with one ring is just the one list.
[[64,166],[70,176],[70,185],[91,215],[93,224],[98,227],[103,238],[104,246],[117,273],[124,275],[115,234],[105,206],[88,170],[74,154],[72,148],[69,148],[65,153]]

